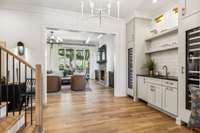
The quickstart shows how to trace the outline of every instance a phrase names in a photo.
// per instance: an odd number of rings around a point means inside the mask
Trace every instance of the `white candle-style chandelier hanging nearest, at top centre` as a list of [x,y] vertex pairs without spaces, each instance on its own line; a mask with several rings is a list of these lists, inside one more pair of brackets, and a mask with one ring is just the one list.
[[[112,2],[112,0],[108,0],[107,6],[105,8],[98,8],[95,6],[95,3],[93,0],[89,0],[90,5],[90,16],[88,18],[99,18],[99,26],[102,24],[102,18],[103,17],[111,17],[111,9],[112,9],[112,3],[114,3],[117,7],[117,16],[116,18],[120,18],[120,0],[116,0],[115,2]],[[81,15],[84,17],[84,1],[81,1]]]

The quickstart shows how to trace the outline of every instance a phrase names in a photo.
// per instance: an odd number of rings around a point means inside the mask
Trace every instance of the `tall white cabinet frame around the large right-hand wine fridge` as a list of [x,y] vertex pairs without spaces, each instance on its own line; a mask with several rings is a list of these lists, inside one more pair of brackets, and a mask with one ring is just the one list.
[[[194,6],[194,7],[192,7]],[[178,89],[178,105],[179,117],[185,123],[189,122],[191,111],[186,108],[186,31],[200,26],[200,12],[191,14],[195,10],[200,10],[200,0],[187,0],[186,15],[179,20],[179,38],[180,49],[178,51],[179,57],[179,89]],[[188,11],[189,10],[189,11]],[[190,15],[190,16],[188,16]]]

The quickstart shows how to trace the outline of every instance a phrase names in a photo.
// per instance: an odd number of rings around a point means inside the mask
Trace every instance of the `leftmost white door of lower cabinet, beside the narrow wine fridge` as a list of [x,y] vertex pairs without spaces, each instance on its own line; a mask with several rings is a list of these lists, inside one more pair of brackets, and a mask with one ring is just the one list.
[[137,77],[137,96],[138,98],[147,102],[147,89],[145,84],[145,77]]

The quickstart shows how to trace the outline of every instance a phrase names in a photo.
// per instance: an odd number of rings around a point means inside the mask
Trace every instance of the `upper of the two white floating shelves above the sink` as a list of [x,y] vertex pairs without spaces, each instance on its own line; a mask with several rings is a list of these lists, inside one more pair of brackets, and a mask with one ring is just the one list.
[[159,38],[159,37],[161,37],[161,36],[164,36],[164,35],[167,35],[167,34],[170,34],[170,33],[175,33],[175,32],[178,32],[178,27],[174,27],[174,28],[169,29],[169,30],[167,30],[167,31],[163,31],[163,32],[161,32],[161,33],[158,33],[158,34],[156,34],[156,35],[153,35],[153,36],[151,36],[151,37],[148,37],[148,38],[146,38],[146,41],[151,41],[151,40],[153,40],[153,39]]

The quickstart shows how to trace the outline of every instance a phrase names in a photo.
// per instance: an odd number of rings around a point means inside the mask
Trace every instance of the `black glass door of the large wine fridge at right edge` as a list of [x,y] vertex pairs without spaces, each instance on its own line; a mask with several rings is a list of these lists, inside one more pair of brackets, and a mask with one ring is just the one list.
[[186,109],[191,109],[191,88],[199,89],[200,27],[186,31]]

